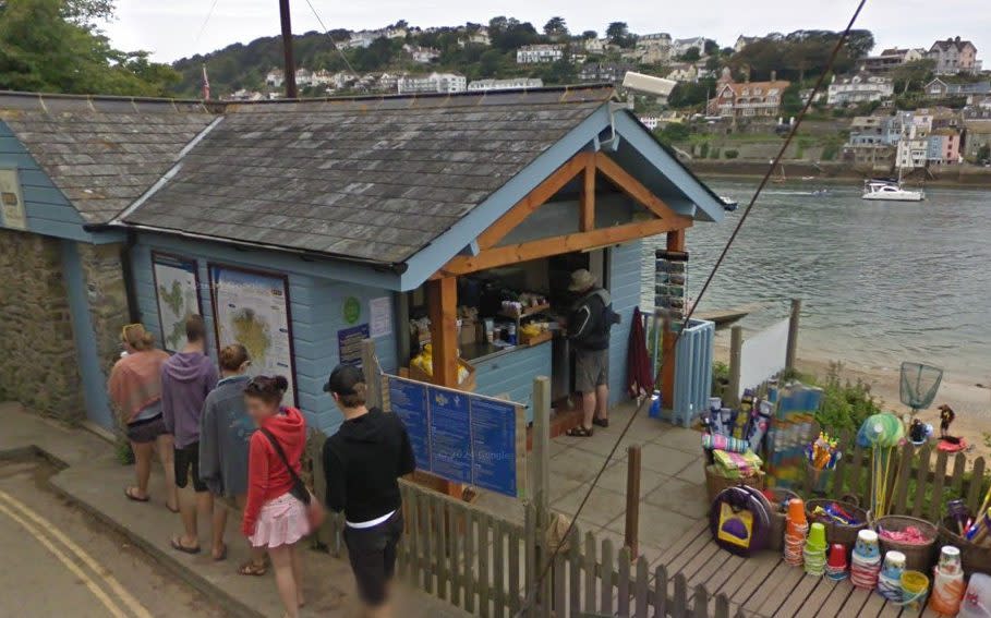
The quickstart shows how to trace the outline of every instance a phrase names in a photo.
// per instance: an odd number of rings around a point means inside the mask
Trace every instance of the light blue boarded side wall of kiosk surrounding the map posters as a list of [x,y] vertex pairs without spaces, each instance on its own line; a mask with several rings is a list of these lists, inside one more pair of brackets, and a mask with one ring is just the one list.
[[[368,319],[368,301],[379,296],[392,298],[392,292],[335,281],[330,278],[334,275],[330,267],[327,269],[328,278],[319,278],[312,274],[273,268],[270,262],[266,259],[266,252],[242,252],[215,243],[149,234],[141,238],[132,253],[134,284],[142,323],[155,332],[159,340],[161,326],[155,295],[155,279],[152,272],[153,251],[196,260],[200,275],[200,302],[203,307],[203,317],[207,324],[210,355],[214,359],[217,354],[217,343],[207,265],[217,263],[288,275],[299,404],[311,426],[325,433],[337,428],[343,419],[330,397],[323,391],[323,385],[330,369],[338,362],[337,331],[351,326],[346,324],[343,318],[343,301],[347,296],[354,296],[359,300],[362,307],[359,324],[364,324]],[[390,312],[389,315],[391,317],[392,313]],[[383,369],[386,372],[396,371],[396,328],[397,325],[394,324],[390,335],[376,339],[376,351]]]

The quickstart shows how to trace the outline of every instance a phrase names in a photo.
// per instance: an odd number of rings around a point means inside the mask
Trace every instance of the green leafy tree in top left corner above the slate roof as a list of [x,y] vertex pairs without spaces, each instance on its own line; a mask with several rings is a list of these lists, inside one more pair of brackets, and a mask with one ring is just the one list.
[[90,22],[112,4],[97,0],[0,3],[0,89],[161,96],[174,72],[143,51],[113,49]]

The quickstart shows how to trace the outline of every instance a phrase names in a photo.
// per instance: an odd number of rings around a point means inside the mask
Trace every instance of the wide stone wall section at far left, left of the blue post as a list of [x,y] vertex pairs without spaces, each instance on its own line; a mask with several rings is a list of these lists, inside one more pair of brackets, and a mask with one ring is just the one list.
[[0,229],[0,399],[83,417],[60,241]]

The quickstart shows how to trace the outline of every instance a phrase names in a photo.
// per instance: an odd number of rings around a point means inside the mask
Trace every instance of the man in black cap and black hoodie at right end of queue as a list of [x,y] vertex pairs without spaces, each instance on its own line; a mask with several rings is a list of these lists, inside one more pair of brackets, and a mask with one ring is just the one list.
[[345,415],[324,443],[327,507],[345,512],[345,543],[366,615],[388,617],[388,584],[402,535],[398,478],[416,468],[413,448],[398,416],[365,407],[367,389],[358,367],[338,365],[324,390]]

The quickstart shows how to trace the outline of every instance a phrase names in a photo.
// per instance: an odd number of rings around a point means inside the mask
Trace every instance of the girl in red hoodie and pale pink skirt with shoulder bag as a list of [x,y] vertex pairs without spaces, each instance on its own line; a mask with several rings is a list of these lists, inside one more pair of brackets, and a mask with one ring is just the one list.
[[247,459],[247,504],[241,531],[255,547],[266,547],[275,568],[276,586],[286,616],[297,618],[303,605],[303,570],[297,543],[310,533],[306,507],[290,493],[292,474],[300,473],[306,443],[306,421],[295,408],[281,405],[289,383],[282,376],[257,376],[244,388],[247,413],[258,426]]

